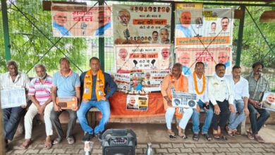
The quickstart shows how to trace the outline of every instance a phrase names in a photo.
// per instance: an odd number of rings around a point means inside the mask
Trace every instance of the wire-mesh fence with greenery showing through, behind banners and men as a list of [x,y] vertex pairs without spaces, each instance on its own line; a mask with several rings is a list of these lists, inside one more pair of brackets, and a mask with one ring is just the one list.
[[[90,6],[99,5],[97,1],[85,1]],[[172,1],[99,1],[104,5],[111,4],[171,4]],[[240,4],[205,3],[204,8],[240,8]],[[171,4],[172,5],[172,4]],[[259,16],[264,11],[271,11],[272,6],[245,4],[243,27],[243,45],[241,46],[240,65],[243,74],[248,74],[252,63],[262,61],[266,68],[264,73],[271,81],[275,91],[275,23],[260,23]],[[274,6],[273,6],[274,8]],[[104,70],[114,72],[114,44],[112,37],[104,38],[104,51],[100,49],[99,38],[59,38],[51,32],[51,11],[43,11],[41,0],[7,1],[8,35],[11,44],[11,58],[18,61],[20,70],[30,77],[35,76],[33,66],[44,63],[50,74],[59,69],[59,58],[67,56],[73,70],[81,73],[89,69],[92,56],[102,56],[104,52]],[[5,71],[5,46],[2,11],[0,12],[0,73]],[[239,42],[240,20],[234,20],[233,64],[236,63],[237,43]],[[99,49],[101,51],[99,51]]]

